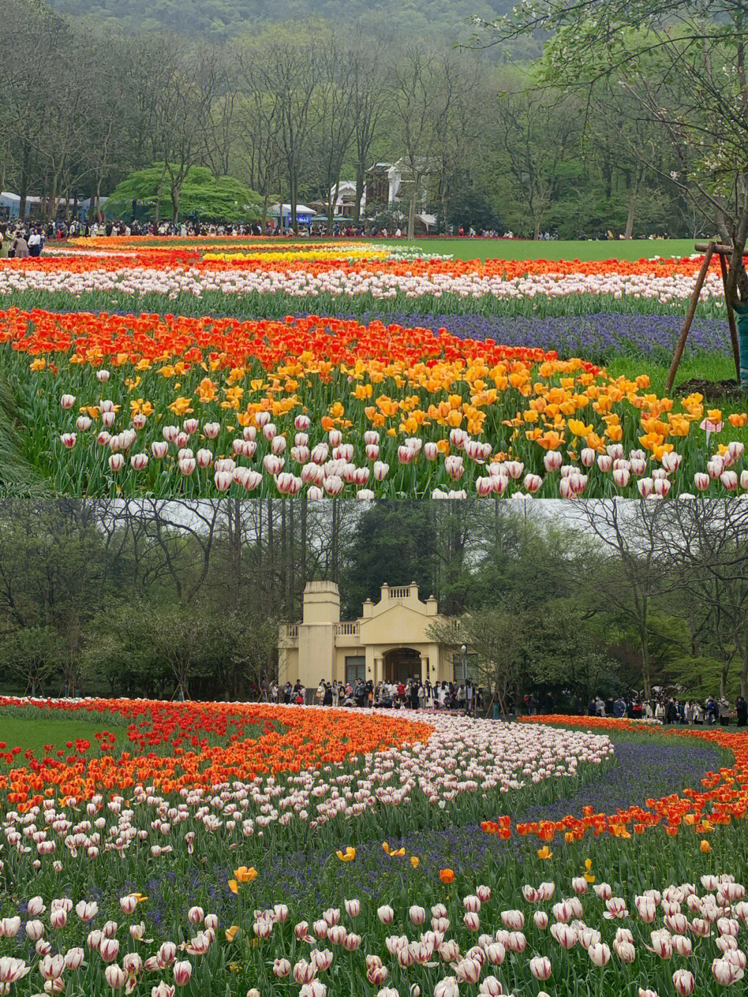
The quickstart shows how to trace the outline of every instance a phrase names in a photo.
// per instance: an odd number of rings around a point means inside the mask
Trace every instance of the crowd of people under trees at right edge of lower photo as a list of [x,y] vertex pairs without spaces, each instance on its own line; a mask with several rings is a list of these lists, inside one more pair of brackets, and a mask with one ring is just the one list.
[[735,700],[734,709],[726,696],[707,696],[703,703],[697,699],[675,699],[674,696],[655,699],[595,696],[587,712],[591,717],[627,717],[629,720],[659,721],[665,725],[720,724],[722,727],[729,727],[734,716],[738,727],[748,726],[748,702],[742,696]]

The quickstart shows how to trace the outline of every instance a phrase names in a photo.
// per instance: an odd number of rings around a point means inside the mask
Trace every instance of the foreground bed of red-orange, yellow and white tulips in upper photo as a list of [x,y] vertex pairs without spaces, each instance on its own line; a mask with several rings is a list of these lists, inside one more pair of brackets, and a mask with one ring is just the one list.
[[[11,309],[3,344],[66,493],[748,488],[744,444],[714,447],[725,424],[700,395],[673,402],[645,375],[445,329]],[[734,429],[747,421],[729,416]]]

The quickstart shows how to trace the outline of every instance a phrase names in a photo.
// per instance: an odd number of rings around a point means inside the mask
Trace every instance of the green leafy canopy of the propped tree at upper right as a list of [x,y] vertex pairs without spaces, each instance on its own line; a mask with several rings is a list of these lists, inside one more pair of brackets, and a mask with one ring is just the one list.
[[656,126],[669,179],[733,247],[728,294],[748,306],[748,0],[522,0],[475,22],[483,45],[546,38],[540,86]]

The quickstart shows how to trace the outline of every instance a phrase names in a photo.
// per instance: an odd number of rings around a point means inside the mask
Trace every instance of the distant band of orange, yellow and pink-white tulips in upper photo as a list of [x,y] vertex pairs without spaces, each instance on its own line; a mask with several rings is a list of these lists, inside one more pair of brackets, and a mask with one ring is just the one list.
[[[253,244],[249,250],[205,251],[214,243],[143,247],[107,240],[104,248],[61,250],[0,262],[0,298],[60,306],[83,298],[92,307],[135,301],[149,310],[184,312],[197,300],[215,314],[283,315],[299,306],[330,312],[336,302],[358,313],[372,307],[404,312],[564,314],[615,310],[682,311],[701,259],[454,260],[407,247],[357,244]],[[702,300],[724,314],[719,266],[709,269]],[[232,304],[232,299],[237,303]],[[57,307],[58,305],[54,305]],[[131,307],[131,305],[130,305]]]

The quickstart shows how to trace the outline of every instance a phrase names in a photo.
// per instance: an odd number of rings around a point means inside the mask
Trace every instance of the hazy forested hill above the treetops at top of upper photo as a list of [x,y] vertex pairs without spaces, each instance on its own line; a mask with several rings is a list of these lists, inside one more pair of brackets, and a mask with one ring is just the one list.
[[511,0],[50,0],[64,14],[92,27],[152,31],[221,39],[240,35],[258,20],[324,18],[335,24],[360,21],[400,37],[449,36],[465,40],[472,15],[495,17]]

